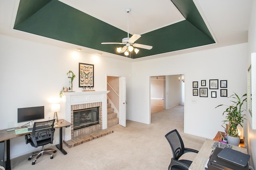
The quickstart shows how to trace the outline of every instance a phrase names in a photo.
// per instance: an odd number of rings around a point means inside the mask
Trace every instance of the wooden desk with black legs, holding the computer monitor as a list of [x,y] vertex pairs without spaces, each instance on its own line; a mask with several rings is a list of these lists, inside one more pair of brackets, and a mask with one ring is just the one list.
[[[64,119],[60,119],[57,122],[57,126],[54,128],[60,128],[60,144],[56,145],[56,148],[58,148],[60,150],[60,152],[62,152],[63,154],[67,154],[67,152],[62,148],[62,128],[63,127],[69,127],[71,126],[72,123],[64,120]],[[15,127],[15,129],[20,129],[20,127]],[[31,132],[28,133],[22,133],[19,135],[15,134],[15,131],[7,131],[7,129],[3,129],[0,130],[0,142],[2,141],[6,141],[6,164],[5,164],[5,169],[6,170],[10,170],[11,169],[11,161],[10,161],[10,139],[14,139],[16,137],[20,137],[20,136],[25,136],[27,134],[30,134]],[[25,142],[25,140],[24,140]]]

